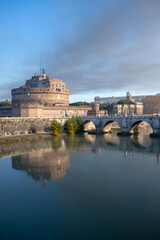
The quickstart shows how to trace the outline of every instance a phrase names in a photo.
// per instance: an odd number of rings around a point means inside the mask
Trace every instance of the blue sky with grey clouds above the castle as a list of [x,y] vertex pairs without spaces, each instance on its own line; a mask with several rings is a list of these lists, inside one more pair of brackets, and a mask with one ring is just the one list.
[[160,92],[159,0],[0,1],[0,100],[39,73],[70,102]]

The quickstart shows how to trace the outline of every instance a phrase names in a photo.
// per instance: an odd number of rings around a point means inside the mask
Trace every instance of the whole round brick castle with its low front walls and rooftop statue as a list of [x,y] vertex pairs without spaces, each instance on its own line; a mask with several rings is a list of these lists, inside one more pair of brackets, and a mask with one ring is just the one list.
[[12,89],[12,116],[85,116],[91,107],[69,106],[69,90],[60,79],[34,75],[24,86]]

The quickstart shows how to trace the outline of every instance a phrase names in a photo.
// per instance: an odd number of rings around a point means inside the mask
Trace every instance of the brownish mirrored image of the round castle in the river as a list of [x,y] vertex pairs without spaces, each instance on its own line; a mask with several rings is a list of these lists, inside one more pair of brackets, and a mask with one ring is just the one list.
[[53,150],[30,152],[12,157],[12,167],[25,170],[36,181],[60,179],[70,167],[70,154]]

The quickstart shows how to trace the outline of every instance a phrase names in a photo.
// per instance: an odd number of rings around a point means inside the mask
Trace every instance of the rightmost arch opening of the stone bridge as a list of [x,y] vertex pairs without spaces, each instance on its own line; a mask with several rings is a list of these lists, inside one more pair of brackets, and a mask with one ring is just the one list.
[[130,133],[134,133],[138,127],[141,129],[147,128],[148,134],[153,132],[153,127],[148,121],[138,120],[138,121],[135,121],[134,123],[132,123],[132,125],[130,127]]

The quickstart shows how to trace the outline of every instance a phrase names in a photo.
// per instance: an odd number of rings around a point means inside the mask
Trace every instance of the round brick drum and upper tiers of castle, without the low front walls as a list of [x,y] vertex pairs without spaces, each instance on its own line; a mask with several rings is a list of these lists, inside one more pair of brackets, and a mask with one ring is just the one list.
[[69,106],[69,90],[60,79],[34,75],[26,80],[24,86],[12,89],[12,114],[20,116],[21,104],[40,104],[43,106]]

